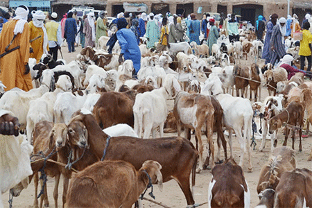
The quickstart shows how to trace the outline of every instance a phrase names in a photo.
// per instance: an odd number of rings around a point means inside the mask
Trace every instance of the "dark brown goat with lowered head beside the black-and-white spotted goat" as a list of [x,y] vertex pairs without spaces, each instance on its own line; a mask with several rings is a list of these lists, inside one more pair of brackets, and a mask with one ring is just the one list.
[[[291,128],[299,126],[299,150],[302,151],[302,125],[303,125],[303,117],[304,117],[304,106],[302,103],[298,103],[292,101],[289,103],[285,110],[282,110],[280,114],[277,116],[273,116],[269,121],[269,132],[272,134],[278,128],[281,128],[281,123],[286,122],[286,134],[285,141],[283,146],[287,145],[287,139]],[[292,127],[288,127],[287,125],[292,125]],[[295,130],[293,130],[293,149],[295,149]]]

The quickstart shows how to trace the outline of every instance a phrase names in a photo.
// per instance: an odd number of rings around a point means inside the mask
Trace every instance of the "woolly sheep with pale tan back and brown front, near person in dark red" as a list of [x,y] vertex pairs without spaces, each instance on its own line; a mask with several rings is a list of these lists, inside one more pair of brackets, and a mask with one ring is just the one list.
[[263,77],[266,79],[266,85],[268,85],[269,96],[272,92],[274,92],[275,96],[277,83],[287,80],[287,71],[282,67],[277,67],[273,70],[268,69],[263,73]]

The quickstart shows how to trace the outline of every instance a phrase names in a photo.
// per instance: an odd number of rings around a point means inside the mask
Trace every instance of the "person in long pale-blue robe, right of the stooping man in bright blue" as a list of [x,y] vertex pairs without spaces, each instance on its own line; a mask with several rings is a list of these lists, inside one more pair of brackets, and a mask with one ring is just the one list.
[[150,13],[150,19],[148,20],[148,24],[146,25],[146,34],[145,37],[147,39],[147,48],[155,47],[155,42],[159,41],[160,33],[157,19],[154,18],[154,14]]

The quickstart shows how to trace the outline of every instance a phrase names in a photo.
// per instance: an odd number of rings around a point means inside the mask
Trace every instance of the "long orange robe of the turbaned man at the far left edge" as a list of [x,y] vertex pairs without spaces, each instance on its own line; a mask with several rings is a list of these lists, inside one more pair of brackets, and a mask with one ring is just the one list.
[[[0,35],[1,54],[5,52],[4,49],[6,49],[6,46],[10,44],[13,38],[13,31],[17,21],[18,20],[12,20],[3,24],[3,29]],[[31,73],[28,73],[27,75],[24,74],[25,64],[28,63],[29,59],[29,34],[29,26],[28,24],[25,24],[23,33],[17,34],[9,49],[13,49],[16,46],[20,46],[20,48],[8,53],[8,55],[5,55],[0,59],[0,80],[3,85],[6,85],[6,91],[14,87],[18,87],[25,91],[33,88],[33,84],[31,83]]]

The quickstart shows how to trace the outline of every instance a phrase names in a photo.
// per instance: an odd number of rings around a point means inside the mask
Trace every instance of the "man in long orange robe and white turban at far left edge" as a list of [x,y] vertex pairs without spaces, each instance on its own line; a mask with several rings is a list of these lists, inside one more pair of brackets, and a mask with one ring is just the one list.
[[0,58],[0,80],[6,85],[6,91],[14,87],[25,91],[33,88],[28,66],[30,49],[30,31],[26,21],[28,12],[26,6],[19,6],[15,10],[16,17],[4,24],[1,32],[0,54],[6,53],[6,49],[15,49]]

